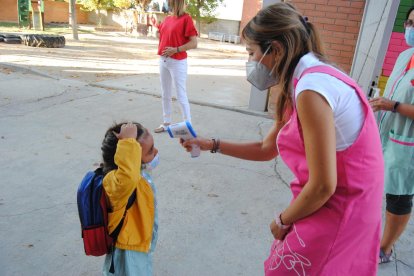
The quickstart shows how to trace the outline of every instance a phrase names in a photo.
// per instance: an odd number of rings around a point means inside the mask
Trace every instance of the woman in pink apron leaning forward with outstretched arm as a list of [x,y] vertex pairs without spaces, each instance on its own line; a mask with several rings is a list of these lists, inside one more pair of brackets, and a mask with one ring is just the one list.
[[281,88],[274,127],[256,143],[183,145],[247,160],[279,154],[295,175],[290,205],[270,224],[265,275],[376,275],[384,162],[364,93],[327,63],[312,23],[290,4],[264,8],[242,36],[247,80]]

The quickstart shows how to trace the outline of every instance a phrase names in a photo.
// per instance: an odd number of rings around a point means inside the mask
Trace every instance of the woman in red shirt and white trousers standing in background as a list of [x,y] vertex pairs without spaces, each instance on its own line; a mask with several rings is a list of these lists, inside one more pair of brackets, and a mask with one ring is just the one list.
[[191,122],[190,103],[187,97],[187,51],[197,48],[197,29],[193,19],[185,12],[185,0],[168,3],[171,15],[153,24],[158,28],[160,41],[160,79],[162,94],[163,122],[154,132],[167,129],[172,121],[172,91],[175,89],[184,120]]

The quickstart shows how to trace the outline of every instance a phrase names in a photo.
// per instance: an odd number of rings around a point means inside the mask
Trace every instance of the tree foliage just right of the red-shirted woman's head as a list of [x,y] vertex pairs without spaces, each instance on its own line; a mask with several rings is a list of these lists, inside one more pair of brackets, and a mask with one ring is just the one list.
[[200,32],[200,23],[210,24],[216,20],[215,12],[223,0],[188,0],[186,11],[197,21],[197,29]]

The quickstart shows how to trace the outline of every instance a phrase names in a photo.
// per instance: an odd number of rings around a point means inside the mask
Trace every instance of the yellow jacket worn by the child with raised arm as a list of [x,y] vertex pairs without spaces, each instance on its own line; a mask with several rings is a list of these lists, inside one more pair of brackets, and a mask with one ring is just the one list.
[[103,179],[109,204],[109,233],[122,219],[128,198],[136,191],[136,200],[128,209],[116,247],[126,250],[149,252],[154,225],[154,193],[150,184],[141,176],[141,145],[133,138],[121,139],[115,153],[117,170],[110,171]]

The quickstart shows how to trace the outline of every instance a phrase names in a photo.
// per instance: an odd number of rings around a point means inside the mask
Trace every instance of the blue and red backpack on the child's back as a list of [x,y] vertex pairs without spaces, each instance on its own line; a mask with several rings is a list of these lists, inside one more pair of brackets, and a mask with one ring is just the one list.
[[[102,256],[111,253],[115,242],[124,224],[127,210],[135,201],[135,190],[128,199],[124,215],[112,233],[108,231],[108,212],[112,212],[108,205],[105,190],[102,185],[104,173],[102,167],[88,172],[78,187],[77,202],[79,219],[82,229],[82,239],[85,254]],[[110,272],[113,273],[113,255]]]

